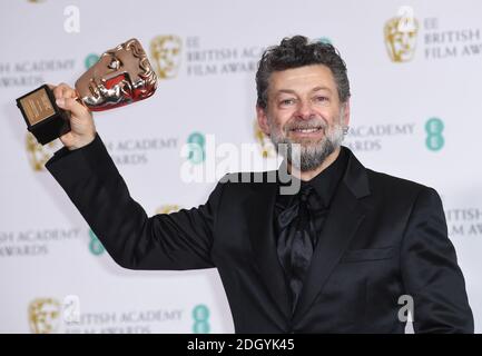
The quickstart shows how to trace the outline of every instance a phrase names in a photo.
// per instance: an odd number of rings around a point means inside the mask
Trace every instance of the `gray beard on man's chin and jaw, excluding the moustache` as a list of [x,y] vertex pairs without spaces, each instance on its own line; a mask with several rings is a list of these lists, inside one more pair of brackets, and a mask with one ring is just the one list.
[[[343,110],[340,118],[343,117]],[[276,151],[281,154],[289,165],[299,171],[309,171],[323,165],[326,158],[342,146],[344,138],[342,125],[334,125],[333,129],[324,127],[325,135],[316,144],[302,145],[293,142],[289,138],[283,137],[281,131],[269,120],[270,140]]]

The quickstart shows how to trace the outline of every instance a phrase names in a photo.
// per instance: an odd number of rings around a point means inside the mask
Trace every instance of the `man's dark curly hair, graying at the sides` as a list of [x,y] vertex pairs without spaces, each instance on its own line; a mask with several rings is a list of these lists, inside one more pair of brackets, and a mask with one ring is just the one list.
[[350,82],[346,65],[340,52],[329,43],[309,42],[304,36],[284,38],[279,46],[266,49],[256,72],[257,106],[266,109],[269,76],[274,71],[293,69],[311,65],[325,65],[335,78],[341,102],[350,98]]

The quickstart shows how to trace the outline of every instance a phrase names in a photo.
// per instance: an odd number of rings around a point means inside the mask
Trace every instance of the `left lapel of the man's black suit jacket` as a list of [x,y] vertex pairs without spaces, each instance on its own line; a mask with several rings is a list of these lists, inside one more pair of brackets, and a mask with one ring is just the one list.
[[245,204],[245,209],[248,211],[249,239],[259,274],[273,297],[274,304],[285,316],[285,319],[279,322],[285,324],[289,318],[289,300],[273,231],[277,185],[252,184],[252,194]]

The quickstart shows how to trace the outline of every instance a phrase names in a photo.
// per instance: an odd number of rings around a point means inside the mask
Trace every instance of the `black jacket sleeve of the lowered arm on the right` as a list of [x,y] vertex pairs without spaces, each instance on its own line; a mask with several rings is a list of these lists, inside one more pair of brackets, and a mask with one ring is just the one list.
[[437,192],[423,188],[405,230],[401,264],[415,333],[473,333],[473,316]]

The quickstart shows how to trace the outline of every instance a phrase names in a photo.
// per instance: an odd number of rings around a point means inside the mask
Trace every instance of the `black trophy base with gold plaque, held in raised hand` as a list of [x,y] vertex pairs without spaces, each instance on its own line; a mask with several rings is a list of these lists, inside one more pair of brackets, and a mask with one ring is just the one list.
[[41,145],[70,131],[69,113],[56,103],[52,90],[43,85],[17,99],[27,129]]

